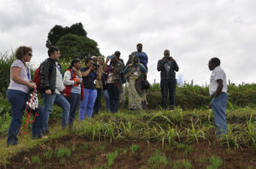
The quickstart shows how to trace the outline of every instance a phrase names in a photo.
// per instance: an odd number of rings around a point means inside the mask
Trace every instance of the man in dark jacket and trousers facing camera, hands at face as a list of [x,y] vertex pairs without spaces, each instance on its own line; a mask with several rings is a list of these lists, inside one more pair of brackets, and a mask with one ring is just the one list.
[[162,108],[166,110],[167,105],[167,94],[169,90],[170,97],[170,110],[175,107],[175,93],[176,93],[176,72],[178,71],[178,66],[172,57],[170,57],[170,51],[165,50],[164,58],[160,59],[157,63],[157,70],[160,71],[160,87],[162,93]]

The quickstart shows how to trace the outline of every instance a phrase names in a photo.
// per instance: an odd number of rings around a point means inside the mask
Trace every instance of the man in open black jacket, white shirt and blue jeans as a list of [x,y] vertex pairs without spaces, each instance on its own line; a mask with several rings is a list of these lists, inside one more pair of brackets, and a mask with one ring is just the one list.
[[48,50],[49,59],[45,59],[40,65],[40,90],[43,92],[44,114],[43,114],[43,133],[49,132],[49,114],[52,112],[53,104],[57,104],[62,108],[61,127],[67,126],[70,104],[61,94],[65,88],[61,67],[57,64],[61,57],[59,48],[50,47]]

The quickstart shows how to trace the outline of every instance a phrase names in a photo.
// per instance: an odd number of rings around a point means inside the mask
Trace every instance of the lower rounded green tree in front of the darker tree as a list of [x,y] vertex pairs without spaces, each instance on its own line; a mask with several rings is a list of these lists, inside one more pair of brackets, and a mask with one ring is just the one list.
[[89,37],[67,34],[62,36],[55,45],[60,48],[61,59],[65,60],[101,55],[99,48],[97,48],[97,42]]

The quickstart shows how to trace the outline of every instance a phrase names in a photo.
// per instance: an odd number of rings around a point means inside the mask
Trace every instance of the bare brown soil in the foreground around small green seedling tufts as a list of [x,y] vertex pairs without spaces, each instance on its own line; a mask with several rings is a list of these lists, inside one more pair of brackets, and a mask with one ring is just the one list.
[[[84,143],[88,144],[88,149],[84,148]],[[68,135],[62,138],[55,138],[48,142],[38,145],[34,149],[20,152],[9,159],[9,164],[0,168],[153,168],[148,164],[148,159],[160,152],[166,155],[168,165],[159,164],[155,168],[172,168],[173,161],[189,160],[192,168],[205,169],[210,165],[209,158],[212,155],[218,155],[223,160],[222,166],[219,168],[226,169],[247,169],[256,168],[256,151],[255,149],[228,149],[218,142],[200,143],[186,145],[192,147],[186,148],[173,145],[169,147],[165,144],[162,149],[161,143],[147,143],[143,140],[118,140],[110,144],[106,141],[91,141],[89,138],[84,138],[77,135]],[[130,146],[137,144],[139,149],[131,152]],[[71,155],[67,157],[57,157],[56,152],[59,148],[70,149]],[[108,166],[107,155],[110,152],[119,150],[119,155],[113,161],[112,166]],[[45,152],[52,152],[49,159],[45,158]],[[40,163],[32,161],[32,157],[38,155]]]

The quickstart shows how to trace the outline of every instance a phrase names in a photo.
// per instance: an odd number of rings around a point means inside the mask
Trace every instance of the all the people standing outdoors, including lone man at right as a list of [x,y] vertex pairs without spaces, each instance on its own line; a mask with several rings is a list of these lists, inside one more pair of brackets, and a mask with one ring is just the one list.
[[[39,67],[40,83],[32,82],[31,72],[26,65],[32,58],[32,48],[22,46],[15,52],[15,62],[10,68],[10,83],[7,98],[11,104],[12,120],[9,126],[7,145],[18,144],[17,134],[20,131],[23,111],[25,109],[27,93],[32,88],[38,88],[43,93],[44,107],[38,107],[38,118],[32,124],[32,138],[42,138],[49,133],[49,115],[53,104],[62,109],[62,129],[73,126],[76,111],[79,108],[79,121],[98,114],[102,109],[102,93],[104,94],[106,110],[113,113],[119,110],[119,99],[125,101],[123,83],[128,82],[128,103],[130,110],[147,109],[146,91],[142,82],[147,80],[148,55],[143,52],[143,44],[137,44],[137,51],[129,55],[127,63],[120,59],[120,52],[116,51],[104,59],[103,56],[85,58],[82,67],[80,59],[73,59],[70,66],[61,72],[58,64],[61,53],[59,48],[50,47],[49,58]],[[219,59],[218,59],[219,60]],[[209,61],[212,70],[210,94],[214,96],[212,107],[218,134],[226,133],[224,111],[227,102],[227,87],[224,71],[219,67],[220,61],[213,58]],[[161,106],[167,109],[167,95],[169,91],[169,110],[175,107],[176,71],[178,65],[170,56],[170,51],[164,51],[164,57],[158,61],[157,70],[160,71],[160,87],[162,94]],[[213,73],[214,72],[214,73]],[[80,105],[80,107],[79,107]]]

